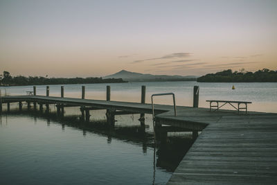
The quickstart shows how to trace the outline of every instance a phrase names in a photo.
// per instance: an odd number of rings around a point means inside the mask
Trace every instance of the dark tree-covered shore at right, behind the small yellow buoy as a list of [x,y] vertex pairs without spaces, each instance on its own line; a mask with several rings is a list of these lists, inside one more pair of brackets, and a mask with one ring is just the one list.
[[197,82],[277,82],[277,71],[261,69],[256,72],[232,71],[231,69],[217,73],[208,73],[197,78]]

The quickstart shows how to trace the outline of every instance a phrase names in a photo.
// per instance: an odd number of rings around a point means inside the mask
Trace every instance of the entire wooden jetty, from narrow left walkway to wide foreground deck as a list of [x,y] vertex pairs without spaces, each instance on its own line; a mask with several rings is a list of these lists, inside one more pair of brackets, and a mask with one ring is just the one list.
[[[107,100],[88,100],[49,96],[4,96],[3,103],[22,102],[63,107],[80,106],[82,118],[89,121],[89,111],[107,109],[107,121],[113,123],[118,114],[152,114],[151,104]],[[194,102],[195,105],[195,102]],[[154,105],[158,125],[170,125],[189,130],[197,136],[193,146],[172,174],[168,184],[277,184],[277,114],[233,110],[211,112],[207,108],[177,106],[174,116],[172,105]],[[84,114],[85,113],[85,114]]]

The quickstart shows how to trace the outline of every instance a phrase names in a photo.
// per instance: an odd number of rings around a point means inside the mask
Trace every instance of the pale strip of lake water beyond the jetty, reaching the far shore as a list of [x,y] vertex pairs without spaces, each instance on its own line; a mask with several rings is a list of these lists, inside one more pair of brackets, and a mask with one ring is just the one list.
[[[146,102],[151,103],[151,95],[173,92],[177,105],[193,105],[193,86],[198,85],[199,107],[208,107],[206,100],[246,100],[251,101],[250,111],[277,112],[277,82],[262,83],[199,83],[199,82],[128,82],[117,84],[89,84],[86,98],[105,100],[106,86],[111,86],[111,100],[140,102],[141,85],[146,86]],[[235,86],[235,90],[231,87]],[[3,89],[2,87],[1,89]],[[33,86],[5,87],[8,95],[26,95]],[[82,85],[64,85],[64,96],[80,98]],[[2,94],[5,93],[2,90]],[[46,86],[37,86],[37,95],[46,95]],[[60,96],[60,85],[50,85],[50,96]],[[155,103],[172,104],[170,96],[155,97]],[[223,107],[222,107],[223,108]],[[231,107],[226,106],[226,109]]]

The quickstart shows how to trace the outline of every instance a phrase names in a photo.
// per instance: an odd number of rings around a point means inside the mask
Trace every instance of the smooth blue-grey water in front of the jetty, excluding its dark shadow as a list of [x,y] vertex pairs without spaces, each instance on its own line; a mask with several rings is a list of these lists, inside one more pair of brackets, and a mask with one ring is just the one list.
[[124,133],[24,114],[4,114],[0,123],[0,184],[166,184],[172,173],[156,167],[147,141]]

